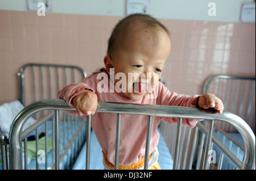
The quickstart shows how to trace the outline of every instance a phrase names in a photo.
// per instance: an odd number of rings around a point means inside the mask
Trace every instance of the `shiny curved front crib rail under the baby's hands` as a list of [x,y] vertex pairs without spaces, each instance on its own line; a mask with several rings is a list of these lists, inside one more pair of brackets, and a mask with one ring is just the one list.
[[[245,123],[240,117],[234,115],[230,112],[223,112],[219,115],[216,111],[208,111],[202,110],[199,108],[191,108],[191,107],[175,107],[175,106],[159,106],[159,105],[139,105],[139,104],[125,104],[125,103],[108,103],[108,102],[98,102],[100,107],[97,109],[97,112],[105,112],[105,113],[117,113],[117,127],[119,127],[119,123],[121,123],[121,114],[135,114],[135,115],[147,115],[148,116],[148,130],[147,130],[147,138],[146,145],[150,143],[150,127],[151,127],[151,116],[161,116],[161,117],[179,117],[179,121],[177,124],[177,133],[176,133],[176,145],[179,145],[179,137],[180,137],[180,125],[181,120],[183,118],[191,118],[191,119],[205,119],[205,120],[220,120],[226,123],[232,124],[237,130],[242,134],[243,139],[245,141],[245,155],[243,157],[241,169],[255,169],[255,136],[253,131],[251,131],[249,125]],[[39,100],[38,102],[32,103],[25,107],[20,113],[15,117],[13,124],[11,125],[10,134],[9,134],[9,142],[10,142],[10,150],[9,156],[10,158],[10,169],[22,169],[22,142],[21,142],[21,131],[26,123],[28,117],[33,115],[38,111],[43,110],[56,110],[58,111],[74,111],[68,104],[61,99],[47,99],[47,100]],[[56,120],[59,121],[56,117]],[[86,146],[86,169],[89,169],[89,153],[90,153],[90,116],[88,116],[88,133],[86,141],[88,145]],[[58,123],[56,123],[58,124]],[[212,128],[209,128],[209,130]],[[58,132],[58,131],[57,131]],[[118,133],[118,130],[117,130]],[[116,145],[119,145],[119,134],[117,134]],[[208,134],[208,140],[210,140],[212,135]],[[57,141],[56,141],[57,144]],[[210,145],[208,142],[207,145]],[[117,146],[118,147],[118,146]],[[209,146],[207,147],[207,149]],[[118,150],[118,149],[117,149]],[[175,148],[176,151],[179,151],[179,147]],[[118,152],[118,151],[117,151]],[[115,158],[118,158],[118,153],[116,152]],[[207,151],[205,151],[207,153]],[[148,149],[146,149],[145,155],[148,155]],[[175,154],[177,155],[177,154]],[[58,157],[58,154],[56,154]],[[145,163],[148,162],[148,157],[145,158]],[[176,159],[174,158],[174,169],[176,168]],[[59,158],[56,158],[58,161]],[[59,165],[58,162],[55,162],[56,167]],[[115,159],[115,169],[117,169],[118,159]],[[206,166],[205,166],[206,168]],[[147,168],[147,164],[144,169]]]

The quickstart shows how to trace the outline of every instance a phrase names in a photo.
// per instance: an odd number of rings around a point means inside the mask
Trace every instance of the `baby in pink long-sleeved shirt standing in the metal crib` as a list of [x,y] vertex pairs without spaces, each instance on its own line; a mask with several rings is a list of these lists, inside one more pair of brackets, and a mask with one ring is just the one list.
[[[114,168],[116,115],[95,113],[98,101],[214,108],[218,113],[224,110],[221,100],[213,94],[177,94],[159,81],[170,50],[170,33],[159,20],[150,15],[131,14],[112,31],[104,57],[105,68],[59,92],[58,97],[76,108],[80,116],[93,115],[92,128],[102,148],[105,169]],[[177,123],[176,118],[152,117],[149,169],[160,169],[160,120]],[[182,124],[193,128],[197,121],[183,119]],[[122,115],[118,169],[143,169],[146,131],[147,116]]]

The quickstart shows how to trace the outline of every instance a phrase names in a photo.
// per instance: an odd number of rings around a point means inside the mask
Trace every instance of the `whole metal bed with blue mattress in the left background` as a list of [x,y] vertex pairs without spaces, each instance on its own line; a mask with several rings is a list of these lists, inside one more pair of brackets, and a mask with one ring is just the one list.
[[[60,64],[36,64],[30,63],[25,64],[18,73],[18,89],[19,89],[19,101],[15,101],[12,103],[15,111],[11,111],[12,115],[10,117],[15,117],[18,114],[18,108],[28,106],[31,103],[34,103],[38,100],[43,99],[55,99],[57,98],[57,93],[59,90],[73,82],[82,82],[82,79],[86,77],[85,70],[81,69],[79,66],[74,65],[60,65]],[[18,102],[22,103],[18,104]],[[14,119],[14,118],[13,118]],[[54,129],[54,111],[39,111],[31,116],[31,121],[27,121],[27,125],[31,125],[36,121],[31,128],[26,129],[24,127],[22,132],[22,144],[28,145],[24,146],[24,169],[49,169],[51,163],[53,163],[53,159],[50,157],[54,157],[54,152],[51,150],[54,148],[54,139],[55,135],[52,134],[52,129]],[[79,116],[69,116],[67,113],[60,113],[60,152],[63,153],[60,156],[62,159],[62,167],[65,169],[71,169],[73,166],[73,162],[77,155],[79,155],[79,151],[81,146],[85,142],[85,126],[84,125],[86,119],[81,119]],[[26,127],[27,127],[26,125]],[[9,125],[10,126],[10,125]],[[77,130],[82,128],[77,133]],[[0,131],[1,132],[1,131]],[[6,131],[7,137],[9,131]],[[43,136],[45,134],[46,136]],[[83,135],[83,136],[82,136]],[[32,138],[32,139],[31,139]],[[43,139],[45,138],[45,140]],[[5,140],[2,138],[1,140]],[[71,143],[71,141],[73,141]],[[2,141],[2,144],[6,141]],[[36,143],[34,143],[36,142]],[[49,167],[43,166],[43,164],[38,164],[35,162],[35,156],[30,154],[31,151],[34,152],[40,150],[41,142],[48,142],[48,148],[46,150],[46,155],[48,154],[48,158],[46,159],[46,164]],[[76,144],[79,142],[79,144]],[[35,144],[36,148],[34,148]],[[31,148],[31,146],[33,146]],[[67,146],[67,147],[66,147]],[[9,145],[6,145],[6,149],[9,150]],[[63,152],[64,151],[64,152]],[[1,151],[2,153],[2,151]],[[28,153],[28,154],[27,154]],[[65,153],[65,155],[64,155]],[[30,157],[31,155],[31,157]],[[28,157],[27,157],[28,156]],[[13,158],[11,158],[13,159]],[[0,169],[5,169],[5,165],[3,161],[1,163],[0,157]]]

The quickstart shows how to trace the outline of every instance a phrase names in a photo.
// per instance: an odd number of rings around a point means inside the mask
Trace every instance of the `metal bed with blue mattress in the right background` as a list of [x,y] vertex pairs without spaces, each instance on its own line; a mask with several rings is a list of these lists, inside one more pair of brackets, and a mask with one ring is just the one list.
[[[232,112],[240,116],[250,126],[255,134],[255,77],[215,75],[209,77],[204,83],[205,92],[211,92],[218,96],[224,103],[225,111]],[[237,129],[224,122],[214,123],[214,136],[226,145],[236,157],[242,157],[244,150],[243,141]],[[213,145],[216,149],[216,145]],[[222,159],[218,161],[218,166],[227,169],[231,167],[225,157],[218,149],[216,154]],[[220,164],[223,162],[222,164]]]

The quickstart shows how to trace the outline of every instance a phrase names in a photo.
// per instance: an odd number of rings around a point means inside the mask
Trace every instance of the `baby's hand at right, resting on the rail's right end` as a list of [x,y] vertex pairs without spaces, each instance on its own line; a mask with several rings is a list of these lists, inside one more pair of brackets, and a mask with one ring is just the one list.
[[222,101],[217,98],[214,94],[205,93],[201,95],[198,100],[198,105],[201,108],[208,109],[214,108],[218,113],[222,113],[224,110],[224,105]]

